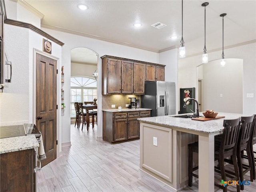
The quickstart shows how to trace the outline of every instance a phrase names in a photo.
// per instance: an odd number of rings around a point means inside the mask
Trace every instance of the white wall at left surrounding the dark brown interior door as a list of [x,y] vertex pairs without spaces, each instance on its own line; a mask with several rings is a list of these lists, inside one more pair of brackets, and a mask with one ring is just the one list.
[[[42,51],[43,36],[17,26],[4,25],[5,52],[12,62],[12,82],[0,93],[0,126],[35,123],[34,49]],[[52,56],[60,58],[61,46],[52,42]],[[60,106],[60,73],[57,75],[57,103]],[[61,143],[60,115],[57,113],[57,139]],[[61,150],[61,148],[59,148]]]

